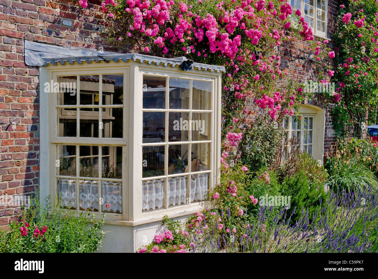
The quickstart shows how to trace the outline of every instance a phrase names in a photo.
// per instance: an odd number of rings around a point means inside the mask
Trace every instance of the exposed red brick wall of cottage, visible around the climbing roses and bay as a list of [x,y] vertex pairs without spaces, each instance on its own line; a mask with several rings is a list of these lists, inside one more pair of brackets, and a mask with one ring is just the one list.
[[[92,3],[96,3],[93,5]],[[0,0],[0,195],[33,195],[40,177],[40,88],[39,67],[25,64],[25,41],[55,45],[74,50],[85,48],[117,51],[107,42],[101,1],[91,1],[87,9],[79,9],[72,0]],[[328,0],[327,36],[335,32],[338,1]],[[334,47],[332,40],[330,47]],[[136,52],[130,45],[129,52]],[[279,48],[284,72],[293,81],[317,80],[308,61],[310,50],[302,41],[291,39]],[[287,59],[290,57],[290,59]],[[261,113],[253,99],[246,101],[244,127]],[[327,100],[321,96],[305,103],[324,112],[324,148],[333,150],[335,138],[332,114]],[[315,109],[312,107],[313,109]],[[320,111],[320,110],[319,110]],[[313,113],[316,114],[316,113]],[[0,226],[6,228],[19,207],[0,204]]]

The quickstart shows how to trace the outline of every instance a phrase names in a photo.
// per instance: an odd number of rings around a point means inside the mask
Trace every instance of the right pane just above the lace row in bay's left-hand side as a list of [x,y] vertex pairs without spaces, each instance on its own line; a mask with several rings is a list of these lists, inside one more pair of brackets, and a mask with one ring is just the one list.
[[102,178],[122,178],[122,146],[102,146]]

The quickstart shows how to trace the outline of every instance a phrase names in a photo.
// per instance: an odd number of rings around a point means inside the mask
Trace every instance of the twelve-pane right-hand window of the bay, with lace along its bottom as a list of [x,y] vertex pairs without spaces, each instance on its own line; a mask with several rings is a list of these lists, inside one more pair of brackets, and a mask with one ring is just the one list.
[[143,76],[143,212],[208,199],[212,93],[211,81]]

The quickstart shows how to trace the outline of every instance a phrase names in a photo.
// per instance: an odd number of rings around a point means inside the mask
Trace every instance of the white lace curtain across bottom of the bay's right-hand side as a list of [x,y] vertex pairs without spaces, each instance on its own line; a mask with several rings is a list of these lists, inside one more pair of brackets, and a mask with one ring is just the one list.
[[[207,199],[209,174],[192,175],[190,198],[191,202],[200,202]],[[164,208],[164,179],[143,181],[142,210],[156,210]],[[168,206],[186,204],[187,177],[168,178]]]

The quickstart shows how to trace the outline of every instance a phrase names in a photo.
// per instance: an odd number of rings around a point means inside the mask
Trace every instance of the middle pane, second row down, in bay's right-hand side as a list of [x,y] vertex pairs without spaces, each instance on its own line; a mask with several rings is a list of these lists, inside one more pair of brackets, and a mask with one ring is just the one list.
[[170,112],[168,123],[168,141],[189,141],[189,113]]

